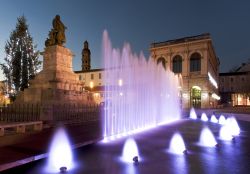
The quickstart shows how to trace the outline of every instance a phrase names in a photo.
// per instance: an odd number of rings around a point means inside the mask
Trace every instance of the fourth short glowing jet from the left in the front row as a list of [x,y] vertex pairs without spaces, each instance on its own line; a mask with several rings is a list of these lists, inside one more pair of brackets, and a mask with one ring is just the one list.
[[208,127],[204,127],[202,129],[199,145],[205,147],[215,147],[217,145],[217,141],[215,140],[213,133]]

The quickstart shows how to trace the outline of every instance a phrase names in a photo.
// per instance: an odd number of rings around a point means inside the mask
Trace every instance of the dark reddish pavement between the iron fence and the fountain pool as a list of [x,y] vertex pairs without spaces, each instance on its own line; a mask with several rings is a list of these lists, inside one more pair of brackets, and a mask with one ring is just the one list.
[[[67,125],[64,128],[73,147],[91,144],[102,138],[99,121]],[[0,172],[46,157],[56,129],[0,137]],[[9,144],[5,145],[5,141]]]

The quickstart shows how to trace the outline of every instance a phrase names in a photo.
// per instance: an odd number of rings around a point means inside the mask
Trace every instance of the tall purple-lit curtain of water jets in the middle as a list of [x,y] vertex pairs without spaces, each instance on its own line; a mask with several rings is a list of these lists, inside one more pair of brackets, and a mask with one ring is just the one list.
[[178,77],[152,58],[112,48],[103,33],[104,137],[124,135],[180,118]]

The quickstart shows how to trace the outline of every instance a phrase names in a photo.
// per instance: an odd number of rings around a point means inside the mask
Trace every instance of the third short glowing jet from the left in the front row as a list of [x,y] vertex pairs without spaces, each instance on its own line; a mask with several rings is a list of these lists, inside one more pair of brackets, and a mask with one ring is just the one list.
[[186,146],[182,136],[175,133],[171,138],[168,151],[173,154],[182,155],[186,151]]

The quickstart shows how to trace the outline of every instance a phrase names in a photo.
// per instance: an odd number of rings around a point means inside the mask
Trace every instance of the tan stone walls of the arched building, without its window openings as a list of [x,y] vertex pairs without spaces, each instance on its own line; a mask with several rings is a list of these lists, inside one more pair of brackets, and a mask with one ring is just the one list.
[[[217,100],[212,94],[218,95],[218,87],[216,88],[208,77],[208,72],[218,83],[218,67],[219,60],[216,57],[210,38],[184,41],[182,43],[161,44],[161,46],[151,47],[151,57],[157,63],[159,58],[164,58],[166,68],[173,70],[173,58],[176,55],[182,57],[182,77],[181,82],[181,103],[183,108],[192,107],[191,91],[193,87],[201,89],[201,108],[217,107]],[[190,71],[190,56],[193,53],[199,53],[201,56],[200,71]]]

